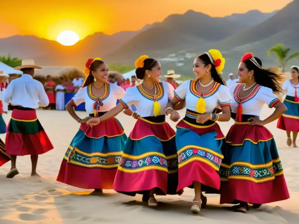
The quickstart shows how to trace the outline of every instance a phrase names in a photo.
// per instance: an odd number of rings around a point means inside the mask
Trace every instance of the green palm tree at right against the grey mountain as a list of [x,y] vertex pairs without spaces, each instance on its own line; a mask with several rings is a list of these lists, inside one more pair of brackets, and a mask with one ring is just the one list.
[[282,72],[284,72],[286,63],[289,60],[299,56],[299,52],[295,52],[288,57],[288,53],[290,50],[291,48],[285,47],[284,44],[276,44],[268,50],[268,56],[270,56],[271,53],[276,54],[278,61],[282,66],[282,70],[281,70]]

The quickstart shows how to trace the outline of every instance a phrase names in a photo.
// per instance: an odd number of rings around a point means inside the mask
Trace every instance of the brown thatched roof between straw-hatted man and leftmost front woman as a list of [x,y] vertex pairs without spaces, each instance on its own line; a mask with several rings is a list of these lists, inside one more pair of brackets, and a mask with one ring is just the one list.
[[85,79],[86,75],[83,71],[77,69],[76,67],[60,67],[60,66],[44,66],[42,69],[34,70],[34,79],[45,83],[46,77],[51,76],[53,81],[57,84],[61,77],[65,80],[73,80],[76,76]]

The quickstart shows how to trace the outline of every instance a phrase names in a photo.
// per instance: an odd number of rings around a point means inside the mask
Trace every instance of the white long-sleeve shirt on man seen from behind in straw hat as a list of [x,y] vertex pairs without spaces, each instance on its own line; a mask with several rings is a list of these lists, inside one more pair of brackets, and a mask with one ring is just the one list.
[[22,74],[20,78],[10,82],[3,95],[3,101],[13,106],[32,109],[49,105],[44,86],[29,74]]

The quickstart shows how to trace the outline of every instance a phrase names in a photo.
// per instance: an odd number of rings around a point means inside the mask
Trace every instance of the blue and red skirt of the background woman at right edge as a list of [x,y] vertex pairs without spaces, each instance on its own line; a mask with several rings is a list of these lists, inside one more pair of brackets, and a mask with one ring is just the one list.
[[299,132],[299,102],[295,102],[293,96],[286,96],[283,103],[288,110],[278,119],[277,128]]

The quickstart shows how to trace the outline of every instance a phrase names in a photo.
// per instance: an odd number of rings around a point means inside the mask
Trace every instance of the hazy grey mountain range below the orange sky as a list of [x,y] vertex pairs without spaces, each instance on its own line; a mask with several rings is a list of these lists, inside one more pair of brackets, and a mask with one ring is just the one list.
[[298,50],[298,12],[299,0],[273,13],[253,10],[222,18],[190,10],[182,15],[170,15],[163,22],[146,25],[138,31],[114,35],[94,33],[73,46],[35,36],[0,39],[0,55],[10,53],[13,57],[32,58],[39,65],[82,68],[88,58],[94,57],[102,57],[108,64],[133,64],[142,54],[158,59],[172,54],[180,63],[175,59],[161,60],[164,70],[175,69],[176,73],[186,74],[193,63],[193,58],[185,57],[187,53],[198,55],[214,48],[226,58],[224,72],[228,72],[236,70],[236,63],[246,52],[253,52],[266,65],[272,65],[275,61],[267,57],[272,45],[283,43],[293,51]]

